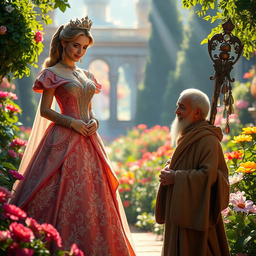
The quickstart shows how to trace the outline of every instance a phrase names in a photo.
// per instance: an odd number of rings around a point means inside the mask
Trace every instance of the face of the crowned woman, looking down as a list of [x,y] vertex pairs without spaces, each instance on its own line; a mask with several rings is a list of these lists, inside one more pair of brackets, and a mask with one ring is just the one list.
[[64,44],[66,52],[64,61],[65,59],[67,60],[67,58],[69,58],[74,62],[78,62],[80,58],[82,58],[82,56],[84,56],[86,53],[89,43],[90,38],[85,35],[80,35],[73,41],[62,41],[62,45]]

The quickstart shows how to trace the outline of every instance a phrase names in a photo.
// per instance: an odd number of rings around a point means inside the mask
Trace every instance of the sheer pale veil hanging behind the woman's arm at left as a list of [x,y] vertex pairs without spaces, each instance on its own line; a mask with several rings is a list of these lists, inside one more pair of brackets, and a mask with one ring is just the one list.
[[[46,131],[47,127],[49,126],[49,124],[52,122],[46,118],[43,118],[40,115],[40,105],[41,105],[41,100],[42,100],[42,96],[40,98],[39,104],[38,104],[38,108],[36,111],[36,116],[34,119],[34,123],[32,126],[32,130],[28,139],[28,143],[24,152],[24,155],[22,157],[21,163],[20,163],[20,167],[19,167],[19,174],[24,174],[24,172],[26,171],[26,167],[28,166],[30,159],[32,158],[34,152],[36,151],[36,148],[39,144],[39,142],[41,141],[42,137],[44,136],[44,132]],[[56,99],[55,97],[53,97],[52,100],[52,106],[51,108],[53,110],[55,110],[55,106],[56,106]],[[13,186],[13,190],[16,189],[16,187],[18,186],[20,181],[16,181],[14,186]]]

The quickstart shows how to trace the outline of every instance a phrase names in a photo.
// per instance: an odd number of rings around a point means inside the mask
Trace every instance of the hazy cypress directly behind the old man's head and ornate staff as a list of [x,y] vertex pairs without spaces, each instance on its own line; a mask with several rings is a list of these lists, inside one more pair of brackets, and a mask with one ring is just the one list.
[[163,97],[162,125],[168,125],[174,119],[176,102],[183,90],[197,88],[205,92],[209,98],[212,97],[213,81],[209,77],[214,74],[213,63],[207,46],[200,45],[200,41],[208,34],[212,26],[214,24],[196,16],[194,10],[190,11],[182,50],[178,53],[176,70],[169,74]]

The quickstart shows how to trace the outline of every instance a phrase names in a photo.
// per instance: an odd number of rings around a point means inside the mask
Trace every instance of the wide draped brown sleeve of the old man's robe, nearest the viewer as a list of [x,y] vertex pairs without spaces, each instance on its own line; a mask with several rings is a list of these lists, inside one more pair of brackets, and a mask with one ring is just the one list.
[[198,169],[176,171],[170,220],[203,231],[216,225],[220,212],[228,207],[230,187],[218,138],[205,136],[195,146],[196,151],[188,152],[188,161],[193,163],[193,154],[198,154]]

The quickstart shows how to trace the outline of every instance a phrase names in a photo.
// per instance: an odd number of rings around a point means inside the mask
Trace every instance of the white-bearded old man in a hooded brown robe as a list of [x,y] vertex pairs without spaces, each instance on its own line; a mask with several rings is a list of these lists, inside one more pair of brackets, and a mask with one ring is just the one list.
[[210,102],[200,90],[184,90],[177,106],[176,149],[159,175],[156,200],[156,222],[165,224],[162,256],[230,256],[221,215],[229,203],[222,130],[206,120]]

